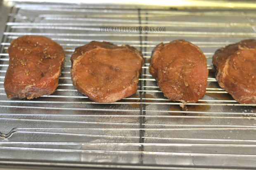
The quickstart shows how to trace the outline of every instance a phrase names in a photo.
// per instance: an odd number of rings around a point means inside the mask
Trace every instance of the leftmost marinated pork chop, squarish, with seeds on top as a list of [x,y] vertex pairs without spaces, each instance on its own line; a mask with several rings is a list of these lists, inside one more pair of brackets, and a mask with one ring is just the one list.
[[59,44],[43,36],[23,36],[11,42],[8,52],[4,83],[8,98],[33,99],[56,90],[65,59]]

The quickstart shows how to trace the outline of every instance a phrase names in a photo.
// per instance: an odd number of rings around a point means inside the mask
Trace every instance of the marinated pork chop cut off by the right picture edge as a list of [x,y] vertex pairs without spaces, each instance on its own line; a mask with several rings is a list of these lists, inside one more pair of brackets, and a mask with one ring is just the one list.
[[215,52],[216,79],[239,103],[256,103],[256,40],[242,40]]

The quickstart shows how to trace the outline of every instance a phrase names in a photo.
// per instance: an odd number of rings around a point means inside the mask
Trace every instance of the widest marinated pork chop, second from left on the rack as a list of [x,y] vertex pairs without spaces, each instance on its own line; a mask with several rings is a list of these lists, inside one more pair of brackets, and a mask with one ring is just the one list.
[[128,45],[92,41],[76,48],[71,62],[77,90],[95,102],[111,103],[137,91],[143,58]]

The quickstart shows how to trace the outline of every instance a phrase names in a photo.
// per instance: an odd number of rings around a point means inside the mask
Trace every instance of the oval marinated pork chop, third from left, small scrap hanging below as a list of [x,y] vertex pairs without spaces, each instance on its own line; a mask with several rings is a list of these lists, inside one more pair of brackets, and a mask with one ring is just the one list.
[[170,100],[197,102],[205,94],[206,58],[197,46],[185,40],[157,45],[152,52],[149,72]]

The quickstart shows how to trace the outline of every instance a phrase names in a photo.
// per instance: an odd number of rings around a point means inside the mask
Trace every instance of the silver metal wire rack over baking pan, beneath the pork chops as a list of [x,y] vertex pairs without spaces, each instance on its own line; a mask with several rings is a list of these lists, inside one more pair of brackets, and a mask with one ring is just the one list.
[[[218,86],[215,50],[256,37],[253,10],[134,9],[104,5],[16,3],[0,44],[0,163],[103,168],[256,167],[256,104],[239,104]],[[165,32],[102,32],[102,26],[165,27]],[[7,99],[3,87],[11,40],[44,35],[66,52],[59,87],[38,99]],[[188,104],[164,97],[149,74],[155,45],[185,39],[208,60],[205,97]],[[70,78],[75,47],[91,40],[128,44],[144,54],[137,93],[98,104]]]

